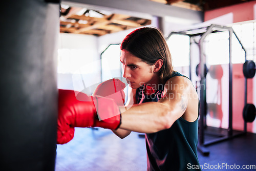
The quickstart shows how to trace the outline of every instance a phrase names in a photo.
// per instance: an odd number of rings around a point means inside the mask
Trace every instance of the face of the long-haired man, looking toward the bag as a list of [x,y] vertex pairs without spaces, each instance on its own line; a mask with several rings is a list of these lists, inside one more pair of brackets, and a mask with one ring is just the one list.
[[121,51],[120,61],[123,66],[123,77],[130,84],[131,88],[137,89],[143,84],[149,83],[154,75],[153,66],[141,61],[130,52]]

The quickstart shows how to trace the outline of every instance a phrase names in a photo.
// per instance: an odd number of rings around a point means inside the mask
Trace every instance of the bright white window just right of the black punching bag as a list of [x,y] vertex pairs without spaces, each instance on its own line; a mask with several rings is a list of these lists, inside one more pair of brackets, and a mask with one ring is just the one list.
[[91,94],[100,82],[100,60],[93,50],[58,50],[58,87]]

